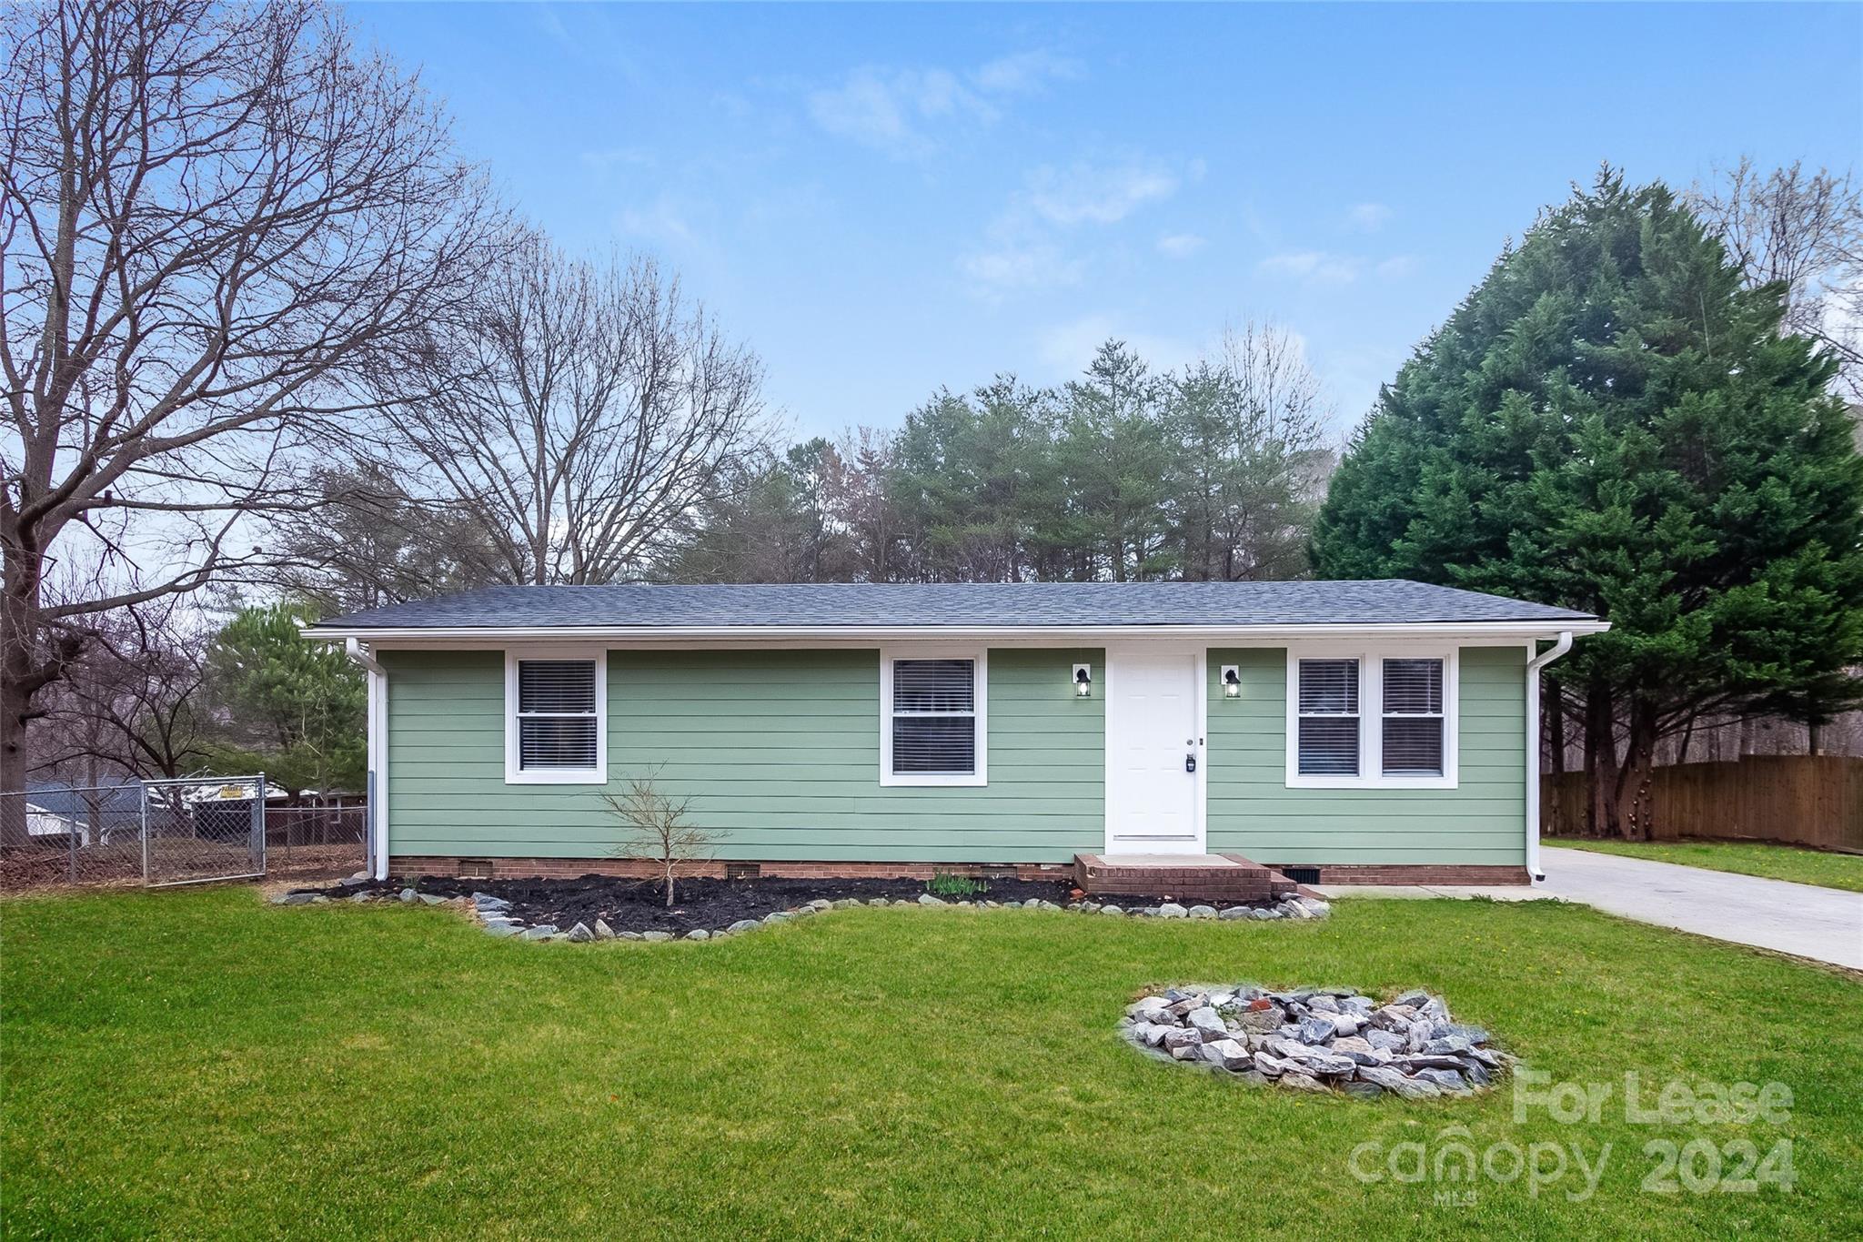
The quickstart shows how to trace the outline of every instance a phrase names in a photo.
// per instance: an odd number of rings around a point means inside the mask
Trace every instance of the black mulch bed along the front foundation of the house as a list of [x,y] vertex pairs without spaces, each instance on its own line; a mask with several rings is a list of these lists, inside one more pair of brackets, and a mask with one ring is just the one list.
[[[872,898],[917,901],[926,892],[920,879],[682,879],[674,884],[678,901],[673,909],[665,905],[665,890],[654,881],[615,879],[611,875],[583,875],[581,879],[451,879],[428,875],[415,881],[389,881],[386,884],[339,884],[326,890],[332,898],[350,896],[360,890],[395,894],[402,888],[434,894],[440,898],[469,898],[475,892],[488,892],[494,898],[510,901],[510,914],[527,925],[555,924],[568,931],[576,924],[594,920],[607,922],[615,931],[671,931],[684,935],[697,927],[717,931],[740,918],[764,918],[777,911],[790,911],[797,905],[823,898],[838,901]],[[980,892],[967,901],[1028,901],[1040,898],[1067,905],[1067,881],[1025,881],[993,879],[989,892]],[[1114,905],[1125,909],[1157,905],[1170,898],[1112,898]],[[1230,905],[1230,903],[1222,903]]]

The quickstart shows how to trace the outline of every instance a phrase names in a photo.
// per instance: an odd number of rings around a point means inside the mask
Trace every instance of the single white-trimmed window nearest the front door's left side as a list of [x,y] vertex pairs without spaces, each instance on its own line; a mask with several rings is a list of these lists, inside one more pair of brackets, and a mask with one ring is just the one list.
[[879,654],[879,784],[989,784],[986,665],[980,648]]

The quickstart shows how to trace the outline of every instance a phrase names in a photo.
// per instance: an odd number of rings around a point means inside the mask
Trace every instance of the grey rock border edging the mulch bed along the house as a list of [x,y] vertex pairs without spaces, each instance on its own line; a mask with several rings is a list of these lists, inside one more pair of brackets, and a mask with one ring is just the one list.
[[[1274,905],[1230,905],[1224,909],[1213,905],[1192,905],[1185,907],[1176,901],[1164,901],[1161,905],[1136,905],[1122,907],[1105,901],[1049,901],[1041,898],[1030,898],[1027,901],[991,901],[991,899],[946,899],[937,898],[930,892],[918,894],[918,898],[840,898],[829,901],[825,898],[816,898],[814,901],[805,901],[801,905],[773,911],[762,918],[740,918],[725,927],[693,927],[680,937],[671,931],[615,931],[604,920],[594,920],[592,925],[578,922],[572,927],[557,927],[555,924],[533,924],[525,925],[525,920],[512,914],[512,903],[505,898],[473,892],[469,898],[442,898],[436,894],[423,894],[415,888],[402,888],[399,892],[380,892],[363,888],[345,898],[341,901],[350,903],[369,903],[369,901],[402,901],[402,903],[425,903],[425,905],[460,905],[471,918],[484,927],[488,935],[516,938],[516,940],[564,940],[568,944],[594,944],[598,940],[723,940],[728,937],[743,935],[745,931],[755,931],[756,927],[786,924],[797,918],[809,918],[812,914],[822,914],[827,911],[846,911],[853,907],[956,907],[969,905],[974,909],[997,911],[997,909],[1028,909],[1028,911],[1071,911],[1075,914],[1097,914],[1101,918],[1200,918],[1200,920],[1315,920],[1332,914],[1332,907],[1326,901],[1315,898],[1285,898]],[[322,892],[285,892],[272,898],[274,905],[311,905],[328,903],[332,898]]]

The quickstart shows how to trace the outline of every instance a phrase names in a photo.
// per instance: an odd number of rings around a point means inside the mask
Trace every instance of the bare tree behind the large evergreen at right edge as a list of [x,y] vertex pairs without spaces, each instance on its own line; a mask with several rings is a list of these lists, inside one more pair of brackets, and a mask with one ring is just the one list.
[[1831,350],[1844,395],[1863,400],[1863,186],[1800,162],[1762,175],[1744,156],[1686,203],[1749,285],[1785,285],[1785,330]]

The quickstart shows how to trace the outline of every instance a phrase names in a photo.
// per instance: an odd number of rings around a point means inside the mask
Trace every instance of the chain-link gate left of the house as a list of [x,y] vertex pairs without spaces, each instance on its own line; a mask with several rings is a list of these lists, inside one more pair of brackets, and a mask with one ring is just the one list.
[[145,780],[142,883],[149,888],[265,875],[265,775]]

